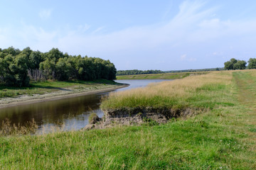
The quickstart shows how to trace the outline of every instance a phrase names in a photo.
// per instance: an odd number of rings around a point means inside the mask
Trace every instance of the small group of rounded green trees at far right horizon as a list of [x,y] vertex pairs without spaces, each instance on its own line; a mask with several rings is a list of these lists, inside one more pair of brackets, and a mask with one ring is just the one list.
[[235,58],[230,59],[228,62],[224,63],[225,69],[256,69],[256,58],[250,58],[248,65],[245,60],[236,60]]

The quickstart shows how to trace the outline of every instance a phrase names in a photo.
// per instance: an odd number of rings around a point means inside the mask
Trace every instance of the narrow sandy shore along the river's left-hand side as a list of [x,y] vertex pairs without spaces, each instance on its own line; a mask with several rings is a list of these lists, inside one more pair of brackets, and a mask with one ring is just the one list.
[[15,98],[1,98],[0,100],[0,108],[7,108],[11,106],[21,106],[31,103],[39,103],[44,101],[55,101],[63,98],[73,98],[76,96],[85,96],[90,94],[97,94],[107,91],[112,91],[115,89],[124,88],[129,86],[128,84],[124,85],[108,85],[105,87],[101,87],[101,89],[84,89],[84,90],[76,90],[76,89],[62,89],[59,91],[54,91],[47,94],[35,94],[33,96],[22,95]]

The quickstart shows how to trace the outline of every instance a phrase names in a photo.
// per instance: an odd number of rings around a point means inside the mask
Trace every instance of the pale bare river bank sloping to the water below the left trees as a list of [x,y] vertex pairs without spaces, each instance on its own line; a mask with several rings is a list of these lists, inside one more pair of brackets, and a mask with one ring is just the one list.
[[[14,97],[3,97],[0,98],[0,108],[6,108],[11,106],[21,106],[31,103],[39,103],[44,101],[55,101],[63,98],[73,98],[76,96],[85,96],[90,94],[102,93],[105,91],[112,91],[129,86],[128,84],[100,84],[99,82],[90,84],[70,84],[70,86],[51,86],[46,88],[46,91],[41,91],[41,94],[23,94],[16,95]],[[44,87],[42,87],[44,88]],[[42,89],[41,88],[41,89]],[[50,91],[48,90],[50,89]],[[26,91],[26,90],[25,90]],[[28,90],[27,90],[28,91]]]

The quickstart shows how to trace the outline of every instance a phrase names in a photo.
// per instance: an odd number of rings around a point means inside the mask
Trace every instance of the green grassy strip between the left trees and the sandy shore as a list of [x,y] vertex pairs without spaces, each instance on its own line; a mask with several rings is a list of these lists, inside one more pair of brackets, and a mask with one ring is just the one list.
[[96,81],[42,81],[32,83],[30,87],[22,88],[0,85],[0,98],[16,97],[19,95],[32,96],[33,94],[46,94],[69,87],[93,89],[95,86],[100,87],[105,84],[114,84],[114,82],[104,79]]

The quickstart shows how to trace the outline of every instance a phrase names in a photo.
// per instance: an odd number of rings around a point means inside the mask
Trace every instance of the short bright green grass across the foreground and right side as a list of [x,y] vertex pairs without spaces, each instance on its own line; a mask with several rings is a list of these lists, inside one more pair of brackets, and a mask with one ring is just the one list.
[[255,71],[222,76],[225,86],[201,90],[233,105],[166,125],[0,137],[0,169],[256,169],[255,110],[246,102],[256,101]]

